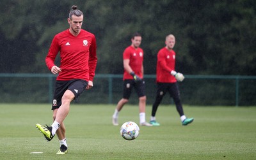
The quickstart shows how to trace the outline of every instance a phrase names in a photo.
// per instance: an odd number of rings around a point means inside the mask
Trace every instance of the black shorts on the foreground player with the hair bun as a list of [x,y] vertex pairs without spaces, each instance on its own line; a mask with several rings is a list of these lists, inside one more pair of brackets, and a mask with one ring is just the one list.
[[60,108],[61,98],[67,90],[74,93],[74,99],[77,101],[77,98],[82,94],[87,85],[88,82],[86,80],[57,80],[52,100],[52,110]]

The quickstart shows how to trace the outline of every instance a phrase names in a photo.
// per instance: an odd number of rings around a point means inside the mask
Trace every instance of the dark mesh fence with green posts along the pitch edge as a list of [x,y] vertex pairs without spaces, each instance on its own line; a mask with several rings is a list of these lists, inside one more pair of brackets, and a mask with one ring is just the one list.
[[[51,103],[55,79],[51,74],[0,74],[0,103]],[[116,104],[122,98],[122,75],[97,75],[93,84],[78,103]],[[145,85],[147,105],[152,105],[156,76],[145,75]],[[256,76],[187,75],[179,88],[186,105],[256,106]],[[138,104],[135,91],[129,103]],[[166,94],[162,103],[173,100]]]

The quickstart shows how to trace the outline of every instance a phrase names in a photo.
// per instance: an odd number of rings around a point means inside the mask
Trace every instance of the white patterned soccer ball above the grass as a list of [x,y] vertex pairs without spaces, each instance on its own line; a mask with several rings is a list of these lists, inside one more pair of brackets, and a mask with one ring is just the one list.
[[125,140],[134,140],[138,137],[140,127],[135,122],[125,122],[120,128],[120,134]]

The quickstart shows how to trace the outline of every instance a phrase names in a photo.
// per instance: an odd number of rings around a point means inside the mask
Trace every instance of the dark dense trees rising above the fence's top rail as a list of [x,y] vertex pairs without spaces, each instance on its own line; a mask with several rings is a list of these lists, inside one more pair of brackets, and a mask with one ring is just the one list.
[[256,75],[256,1],[1,0],[0,73],[48,73],[44,58],[54,34],[68,28],[76,4],[83,28],[97,37],[97,73],[122,74],[131,34],[143,36],[145,74],[167,34],[177,39],[177,70],[189,75]]

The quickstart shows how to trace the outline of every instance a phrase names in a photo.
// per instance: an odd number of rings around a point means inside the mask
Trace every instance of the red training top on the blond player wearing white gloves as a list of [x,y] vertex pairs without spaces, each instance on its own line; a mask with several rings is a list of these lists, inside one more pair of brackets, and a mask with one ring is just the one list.
[[177,82],[171,71],[175,71],[175,52],[166,47],[159,50],[157,54],[156,82],[174,83]]

